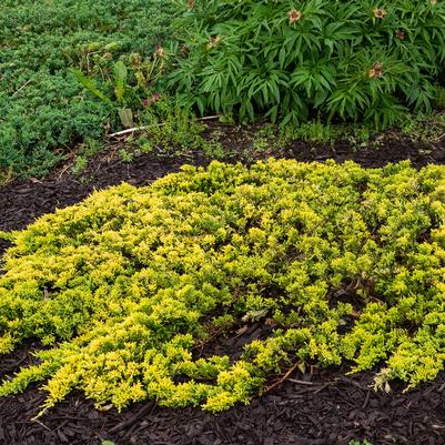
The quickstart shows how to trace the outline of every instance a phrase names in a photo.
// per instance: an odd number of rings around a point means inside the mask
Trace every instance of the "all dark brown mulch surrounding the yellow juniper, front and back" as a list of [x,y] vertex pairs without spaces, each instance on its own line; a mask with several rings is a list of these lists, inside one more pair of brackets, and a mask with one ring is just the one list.
[[[229,162],[250,163],[275,155],[300,161],[354,160],[366,168],[404,159],[416,168],[445,163],[443,139],[424,143],[390,134],[377,146],[360,150],[353,150],[347,141],[325,145],[297,141],[261,152],[243,146],[245,136],[234,131],[226,131],[222,139],[224,146],[232,149],[232,155],[225,158]],[[81,176],[65,164],[44,180],[13,181],[0,188],[0,231],[22,229],[41,214],[82,200],[94,189],[122,181],[148,184],[178,171],[183,163],[210,162],[196,152],[170,158],[142,154],[125,163],[112,150],[95,158]],[[0,255],[7,244],[0,241]],[[215,347],[236,354],[240,345],[263,335],[262,330],[253,324],[239,338],[221,340]],[[29,342],[2,356],[0,378],[13,374],[19,365],[32,363],[30,351],[38,347],[38,343]],[[305,374],[294,371],[285,380],[271,376],[271,391],[249,406],[219,415],[196,408],[162,408],[151,402],[121,413],[98,411],[79,393],[33,421],[44,393],[32,386],[23,394],[0,397],[0,445],[100,445],[102,439],[117,445],[346,445],[352,439],[367,439],[373,445],[445,444],[445,372],[408,392],[392,384],[388,393],[371,388],[372,373],[345,375],[347,368],[322,371],[313,366]]]

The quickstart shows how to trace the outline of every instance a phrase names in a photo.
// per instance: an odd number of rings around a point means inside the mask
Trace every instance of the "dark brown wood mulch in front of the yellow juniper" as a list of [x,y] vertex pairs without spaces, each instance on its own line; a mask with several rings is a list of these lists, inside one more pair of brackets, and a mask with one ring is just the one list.
[[[43,394],[0,400],[0,443],[10,445],[334,445],[367,438],[373,444],[444,444],[445,375],[403,394],[368,387],[372,375],[344,377],[338,371],[287,381],[271,394],[220,415],[195,408],[169,409],[150,402],[123,413],[95,411],[72,395],[32,422]],[[296,375],[295,380],[303,377]],[[304,382],[304,381],[303,381]]]

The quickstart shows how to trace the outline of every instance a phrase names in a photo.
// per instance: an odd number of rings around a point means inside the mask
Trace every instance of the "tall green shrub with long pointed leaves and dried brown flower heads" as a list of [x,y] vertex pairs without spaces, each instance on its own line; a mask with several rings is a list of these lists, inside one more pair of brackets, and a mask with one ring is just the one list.
[[429,110],[444,77],[445,3],[432,0],[183,0],[170,85],[202,113],[377,128]]

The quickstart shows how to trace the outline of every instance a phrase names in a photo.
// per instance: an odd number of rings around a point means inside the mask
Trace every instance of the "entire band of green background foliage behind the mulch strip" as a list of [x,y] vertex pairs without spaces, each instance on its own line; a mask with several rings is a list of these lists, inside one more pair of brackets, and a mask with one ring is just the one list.
[[166,144],[192,146],[195,112],[382,129],[445,103],[443,1],[7,0],[2,12],[0,180],[43,175],[125,127],[161,123]]

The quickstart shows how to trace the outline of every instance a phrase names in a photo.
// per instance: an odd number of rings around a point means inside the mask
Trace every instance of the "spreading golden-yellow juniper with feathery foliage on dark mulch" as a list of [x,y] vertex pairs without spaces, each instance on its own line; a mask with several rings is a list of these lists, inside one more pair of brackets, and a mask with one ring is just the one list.
[[[386,390],[444,366],[444,166],[184,166],[2,236],[0,352],[45,348],[0,395],[45,381],[45,407],[81,390],[219,412],[296,364],[376,370]],[[201,355],[254,321],[274,328],[240,358]]]

